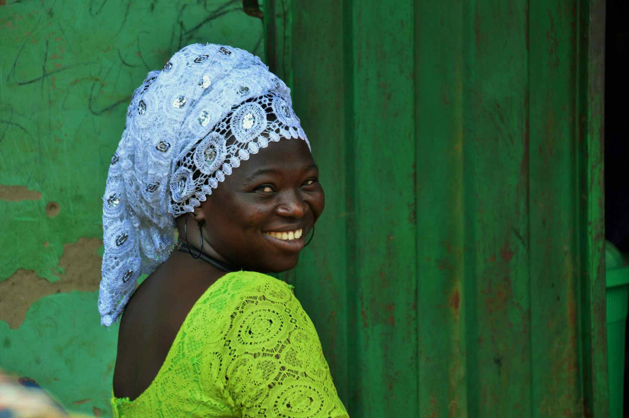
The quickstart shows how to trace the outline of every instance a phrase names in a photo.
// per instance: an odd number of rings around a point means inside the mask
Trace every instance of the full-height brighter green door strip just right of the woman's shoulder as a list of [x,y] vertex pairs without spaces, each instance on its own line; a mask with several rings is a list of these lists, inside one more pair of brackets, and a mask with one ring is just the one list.
[[404,400],[413,396],[409,382],[416,373],[415,360],[399,355],[417,338],[411,332],[415,193],[408,187],[414,163],[409,151],[415,147],[413,52],[408,48],[413,25],[406,24],[413,2],[352,2],[347,9],[353,101],[344,111],[351,119],[346,140],[353,142],[347,158],[352,160],[348,169],[353,168],[348,180],[355,239],[350,260],[355,275],[349,280],[360,314],[353,353],[360,365],[353,382],[360,390],[353,403],[359,415],[399,416],[408,413]]

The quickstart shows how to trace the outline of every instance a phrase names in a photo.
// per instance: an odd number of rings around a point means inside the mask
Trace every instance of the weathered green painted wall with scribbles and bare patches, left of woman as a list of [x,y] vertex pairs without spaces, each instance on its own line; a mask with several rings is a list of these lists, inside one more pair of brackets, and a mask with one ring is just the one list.
[[184,45],[264,55],[240,1],[0,0],[0,368],[109,415],[101,195],[131,92]]

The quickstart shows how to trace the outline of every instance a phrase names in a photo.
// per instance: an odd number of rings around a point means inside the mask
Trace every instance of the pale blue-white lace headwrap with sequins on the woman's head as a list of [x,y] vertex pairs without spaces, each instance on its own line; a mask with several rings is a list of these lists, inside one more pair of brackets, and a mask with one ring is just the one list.
[[116,322],[136,279],[169,256],[175,217],[281,138],[308,142],[286,84],[247,51],[189,45],[148,73],[131,98],[103,197],[101,324]]

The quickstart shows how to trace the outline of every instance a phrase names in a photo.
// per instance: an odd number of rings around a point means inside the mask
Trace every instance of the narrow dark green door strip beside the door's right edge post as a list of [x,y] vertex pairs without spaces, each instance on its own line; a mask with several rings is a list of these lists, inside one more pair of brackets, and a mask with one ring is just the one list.
[[574,195],[576,34],[569,1],[531,2],[533,416],[582,413]]

